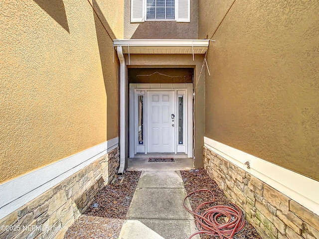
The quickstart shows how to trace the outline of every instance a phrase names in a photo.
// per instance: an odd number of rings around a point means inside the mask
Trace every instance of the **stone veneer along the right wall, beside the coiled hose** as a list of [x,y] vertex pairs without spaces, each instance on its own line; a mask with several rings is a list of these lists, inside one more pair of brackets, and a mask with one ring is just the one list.
[[204,168],[263,239],[319,239],[319,216],[204,147]]

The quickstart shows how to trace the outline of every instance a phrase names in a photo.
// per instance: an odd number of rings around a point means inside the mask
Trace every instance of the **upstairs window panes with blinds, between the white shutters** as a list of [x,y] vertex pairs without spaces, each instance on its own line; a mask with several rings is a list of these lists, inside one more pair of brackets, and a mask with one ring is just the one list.
[[147,0],[146,19],[175,20],[175,0]]

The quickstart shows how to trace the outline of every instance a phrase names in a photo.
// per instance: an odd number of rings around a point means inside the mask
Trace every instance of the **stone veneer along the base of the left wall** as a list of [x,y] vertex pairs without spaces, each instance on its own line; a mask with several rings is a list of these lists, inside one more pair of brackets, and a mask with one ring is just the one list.
[[[119,147],[0,220],[0,239],[60,239],[108,184],[120,164]],[[35,179],[36,180],[36,179]],[[49,230],[47,230],[49,229]]]

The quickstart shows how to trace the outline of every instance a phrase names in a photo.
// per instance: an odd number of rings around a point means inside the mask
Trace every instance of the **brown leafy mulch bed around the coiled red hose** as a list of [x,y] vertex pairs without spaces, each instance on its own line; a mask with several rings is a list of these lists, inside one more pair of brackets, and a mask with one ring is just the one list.
[[[217,186],[216,182],[212,180],[205,169],[192,169],[190,171],[180,171],[183,178],[184,186],[187,194],[199,189],[208,189],[215,195],[215,202],[209,206],[225,205],[230,206],[230,201],[225,196],[223,191]],[[189,197],[190,205],[194,211],[201,203],[211,201],[212,198],[206,193],[195,193]],[[209,207],[207,205],[207,207]],[[205,209],[205,208],[204,208]],[[201,239],[219,239],[219,237],[200,235]],[[234,239],[261,239],[255,228],[246,221],[245,227],[242,231],[233,236]]]

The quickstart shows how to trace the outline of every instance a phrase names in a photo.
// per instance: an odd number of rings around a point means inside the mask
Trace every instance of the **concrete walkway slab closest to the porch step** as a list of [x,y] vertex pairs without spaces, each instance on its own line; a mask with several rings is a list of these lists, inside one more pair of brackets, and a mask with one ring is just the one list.
[[143,171],[138,188],[184,188],[179,171]]

